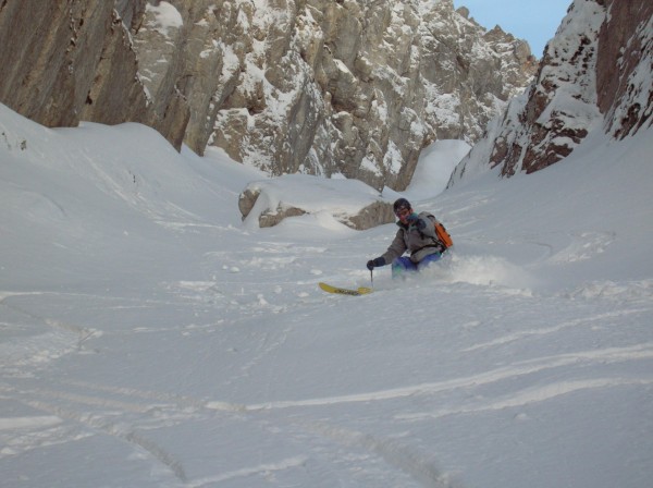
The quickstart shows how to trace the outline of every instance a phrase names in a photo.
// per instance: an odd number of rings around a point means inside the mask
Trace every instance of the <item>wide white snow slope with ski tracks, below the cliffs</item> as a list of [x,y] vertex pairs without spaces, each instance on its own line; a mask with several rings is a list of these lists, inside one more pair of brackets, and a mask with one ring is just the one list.
[[0,106],[0,486],[648,487],[652,150],[414,186],[454,252],[349,297],[392,224],[245,227],[251,168]]

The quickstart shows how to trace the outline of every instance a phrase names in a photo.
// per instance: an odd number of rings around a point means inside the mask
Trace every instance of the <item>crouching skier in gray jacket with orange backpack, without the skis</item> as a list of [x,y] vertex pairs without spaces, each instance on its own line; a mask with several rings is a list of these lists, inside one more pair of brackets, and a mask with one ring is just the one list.
[[[406,272],[420,271],[439,260],[446,246],[438,239],[434,221],[429,212],[416,213],[406,198],[397,199],[393,209],[399,219],[399,230],[387,251],[370,259],[367,268],[372,271],[379,266],[392,264],[392,277],[397,278]],[[406,252],[410,256],[404,256]]]

